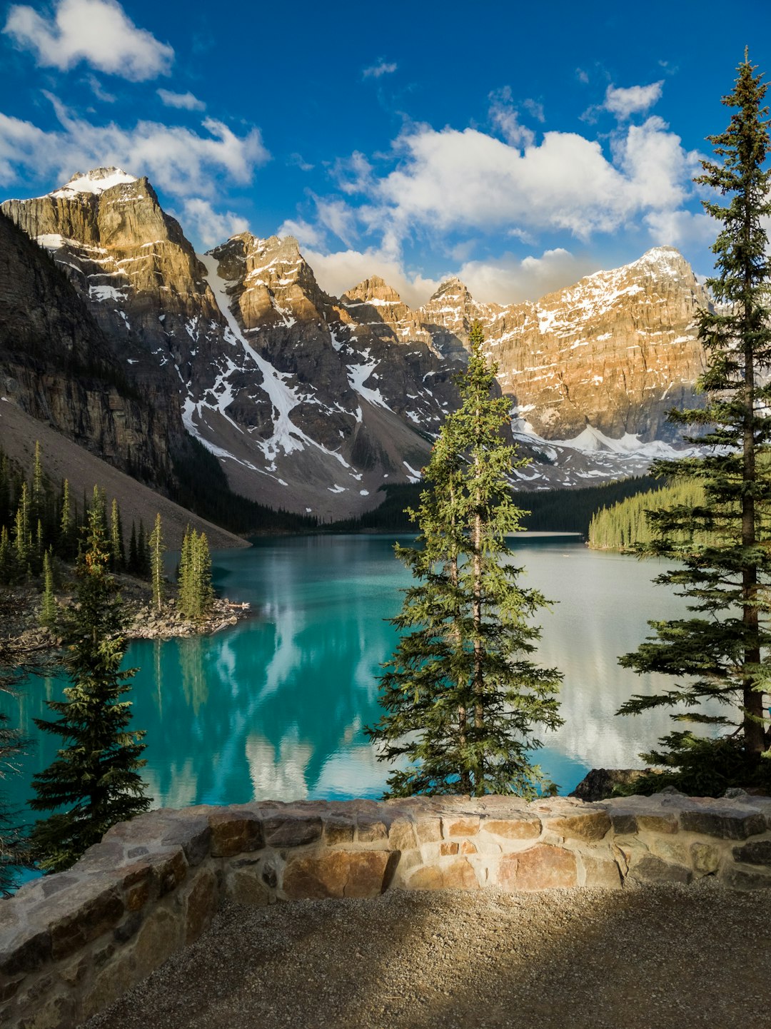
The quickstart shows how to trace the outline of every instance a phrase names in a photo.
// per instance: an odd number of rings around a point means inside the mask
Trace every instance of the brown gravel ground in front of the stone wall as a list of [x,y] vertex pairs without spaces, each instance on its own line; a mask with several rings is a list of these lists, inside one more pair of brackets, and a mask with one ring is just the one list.
[[695,886],[226,904],[87,1029],[768,1029],[771,896]]

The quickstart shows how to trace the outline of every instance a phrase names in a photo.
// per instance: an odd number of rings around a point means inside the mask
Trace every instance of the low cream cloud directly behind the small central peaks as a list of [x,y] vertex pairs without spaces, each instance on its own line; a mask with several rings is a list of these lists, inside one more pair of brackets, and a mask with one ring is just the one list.
[[363,279],[379,275],[396,290],[405,304],[419,308],[441,282],[440,279],[426,279],[419,274],[408,275],[397,260],[376,248],[324,254],[304,247],[303,254],[313,269],[319,286],[332,296],[342,296]]

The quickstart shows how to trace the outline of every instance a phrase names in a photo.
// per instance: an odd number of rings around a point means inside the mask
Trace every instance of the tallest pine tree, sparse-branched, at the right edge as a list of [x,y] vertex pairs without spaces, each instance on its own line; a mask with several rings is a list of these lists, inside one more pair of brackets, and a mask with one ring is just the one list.
[[[674,685],[651,697],[632,697],[621,708],[635,714],[674,707],[676,721],[711,726],[730,739],[745,777],[763,774],[761,755],[771,744],[763,714],[763,694],[771,679],[771,261],[764,222],[771,216],[771,171],[764,170],[771,142],[766,84],[748,58],[739,65],[733,93],[723,103],[732,109],[728,129],[708,137],[721,164],[704,161],[696,181],[722,200],[704,207],[720,223],[712,247],[716,274],[708,280],[714,309],[703,311],[699,335],[706,350],[701,387],[703,410],[676,420],[706,427],[686,438],[701,443],[703,457],[660,461],[656,473],[697,478],[705,502],[680,504],[652,517],[654,554],[682,562],[660,575],[689,598],[691,616],[651,623],[656,635],[621,664],[636,672],[676,676]],[[698,542],[698,533],[710,541]],[[724,715],[707,714],[702,702],[716,701]],[[698,749],[709,760],[710,741],[693,732],[672,732],[661,751],[646,760],[682,767]],[[714,741],[712,753],[725,750]],[[763,762],[765,765],[765,762]],[[745,780],[746,781],[746,780]]]

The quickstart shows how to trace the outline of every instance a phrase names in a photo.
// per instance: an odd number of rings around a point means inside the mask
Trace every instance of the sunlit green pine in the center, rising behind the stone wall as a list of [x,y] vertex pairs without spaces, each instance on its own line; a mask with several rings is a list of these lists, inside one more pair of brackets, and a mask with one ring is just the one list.
[[367,730],[391,772],[390,796],[488,792],[533,796],[552,784],[531,764],[535,732],[561,723],[561,675],[530,661],[545,604],[518,584],[505,536],[523,514],[509,476],[516,451],[504,438],[510,402],[493,396],[495,367],[475,323],[462,404],[446,419],[424,469],[427,489],[411,518],[414,547],[396,547],[417,584],[393,624],[402,635],[382,677],[385,714]]

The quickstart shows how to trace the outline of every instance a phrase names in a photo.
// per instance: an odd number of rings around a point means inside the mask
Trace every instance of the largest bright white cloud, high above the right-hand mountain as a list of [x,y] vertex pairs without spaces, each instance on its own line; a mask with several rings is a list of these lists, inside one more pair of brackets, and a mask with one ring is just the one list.
[[[327,202],[345,225],[344,241],[355,239],[356,221],[389,238],[391,252],[418,228],[567,232],[587,240],[679,206],[696,161],[658,117],[615,137],[611,159],[599,142],[574,133],[547,132],[521,151],[476,129],[429,126],[408,129],[394,152],[393,171],[360,180],[365,206]],[[325,223],[338,232],[328,213]]]

